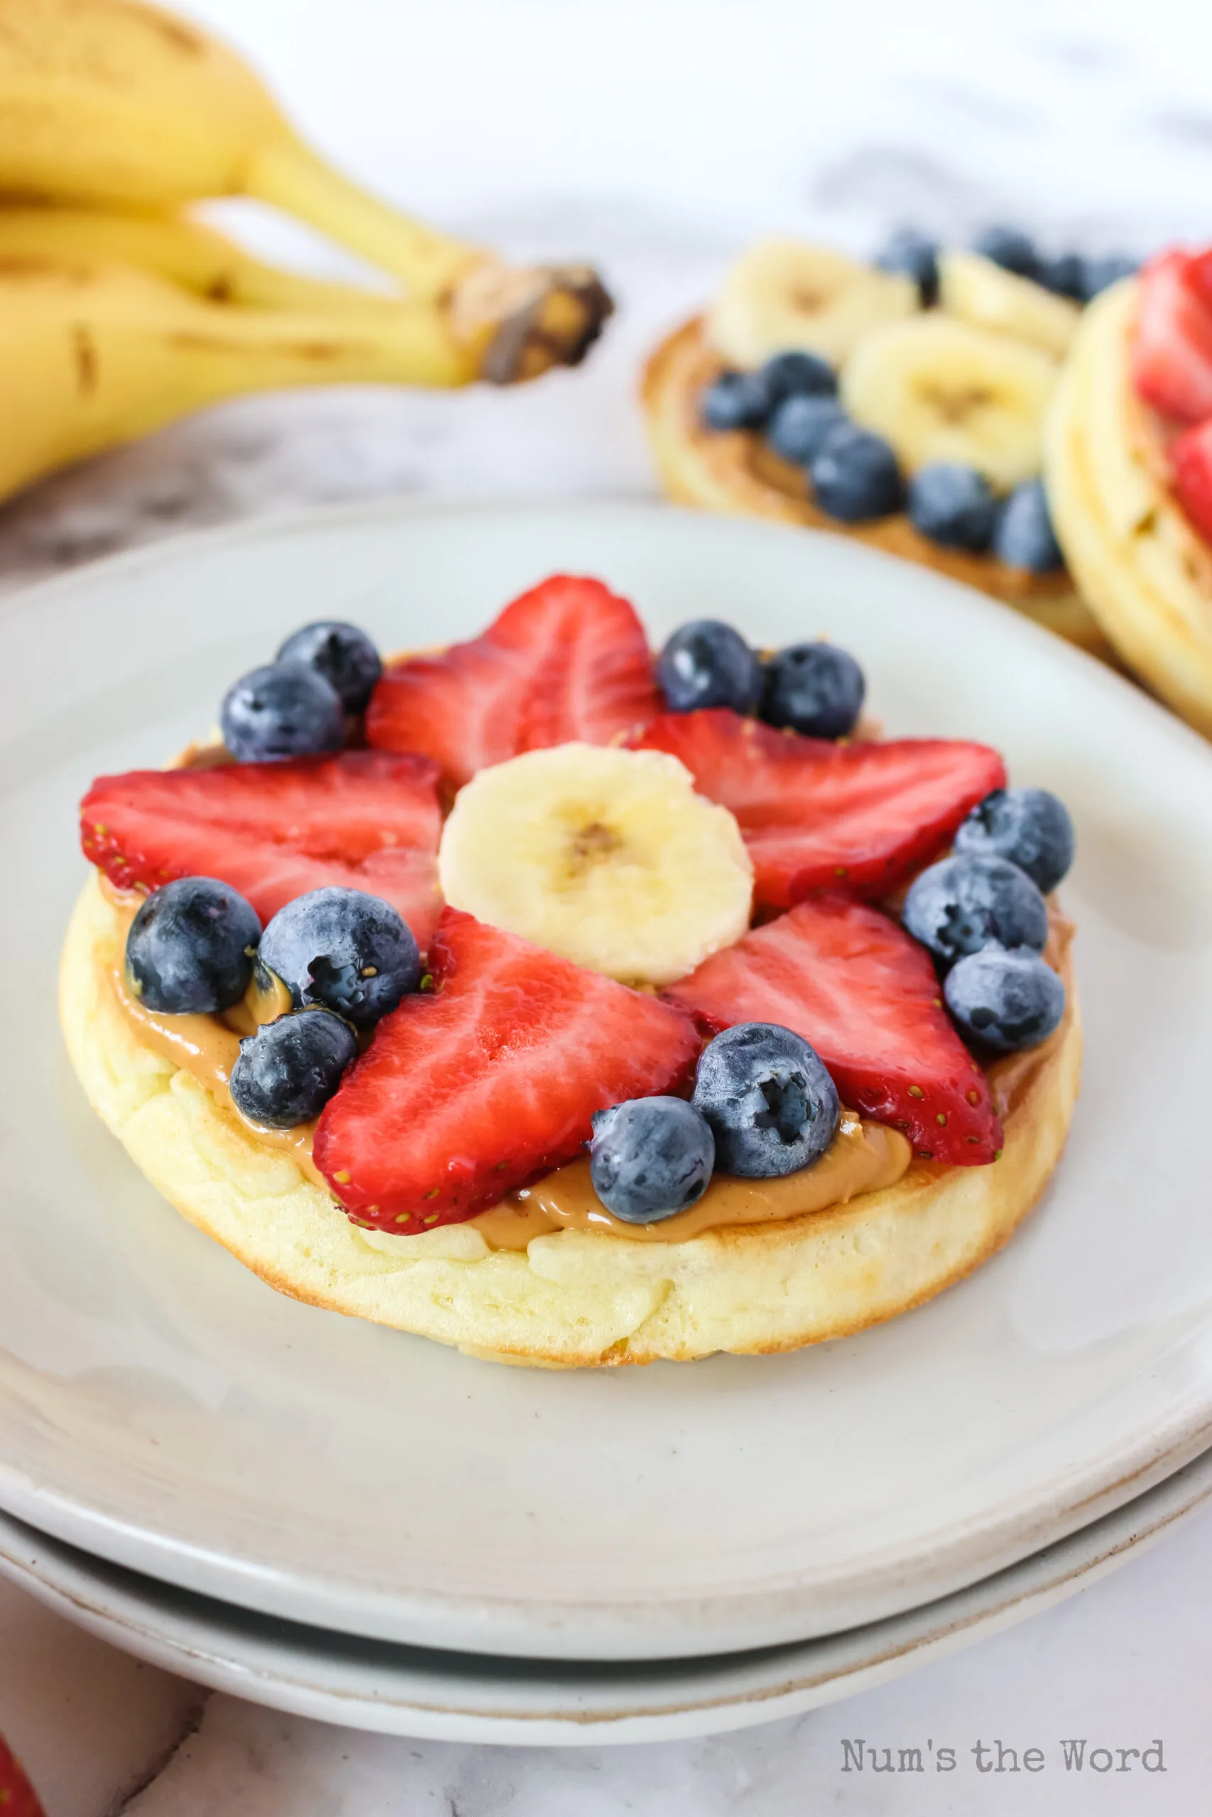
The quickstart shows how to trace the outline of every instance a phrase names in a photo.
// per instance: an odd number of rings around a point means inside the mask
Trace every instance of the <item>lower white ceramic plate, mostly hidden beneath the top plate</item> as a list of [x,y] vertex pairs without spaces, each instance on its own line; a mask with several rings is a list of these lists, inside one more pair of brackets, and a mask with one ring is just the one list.
[[365,1641],[254,1615],[104,1564],[0,1514],[0,1572],[140,1659],[253,1703],[436,1741],[601,1746],[801,1715],[1085,1590],[1212,1495],[1212,1452],[1068,1539],[925,1608],[796,1646],[580,1664]]

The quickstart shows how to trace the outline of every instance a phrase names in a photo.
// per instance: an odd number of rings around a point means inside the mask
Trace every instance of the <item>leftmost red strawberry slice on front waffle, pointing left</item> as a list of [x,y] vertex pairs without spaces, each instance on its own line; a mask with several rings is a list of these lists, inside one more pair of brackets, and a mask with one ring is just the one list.
[[218,878],[262,923],[305,890],[345,883],[394,903],[425,947],[442,908],[436,779],[427,758],[382,750],[98,776],[80,843],[118,889]]

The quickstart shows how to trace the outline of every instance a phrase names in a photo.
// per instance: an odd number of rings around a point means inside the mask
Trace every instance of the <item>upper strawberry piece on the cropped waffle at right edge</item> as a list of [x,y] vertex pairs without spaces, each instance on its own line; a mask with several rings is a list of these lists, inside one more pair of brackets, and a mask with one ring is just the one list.
[[1179,423],[1212,416],[1212,302],[1203,267],[1190,282],[1187,253],[1163,253],[1139,280],[1132,383],[1145,403]]

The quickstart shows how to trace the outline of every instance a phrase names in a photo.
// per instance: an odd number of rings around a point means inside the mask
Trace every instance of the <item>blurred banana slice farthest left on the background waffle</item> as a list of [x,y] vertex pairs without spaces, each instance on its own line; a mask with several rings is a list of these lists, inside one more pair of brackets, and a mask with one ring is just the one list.
[[709,333],[721,358],[743,371],[792,347],[841,365],[869,329],[918,307],[910,278],[829,247],[763,240],[723,280]]

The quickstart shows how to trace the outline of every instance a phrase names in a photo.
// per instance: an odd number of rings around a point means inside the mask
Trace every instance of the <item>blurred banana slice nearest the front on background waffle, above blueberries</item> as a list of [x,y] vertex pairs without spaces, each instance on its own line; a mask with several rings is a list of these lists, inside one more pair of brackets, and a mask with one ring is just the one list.
[[910,472],[963,462],[1008,491],[1039,472],[1058,371],[1039,347],[927,314],[861,342],[841,374],[841,402]]

